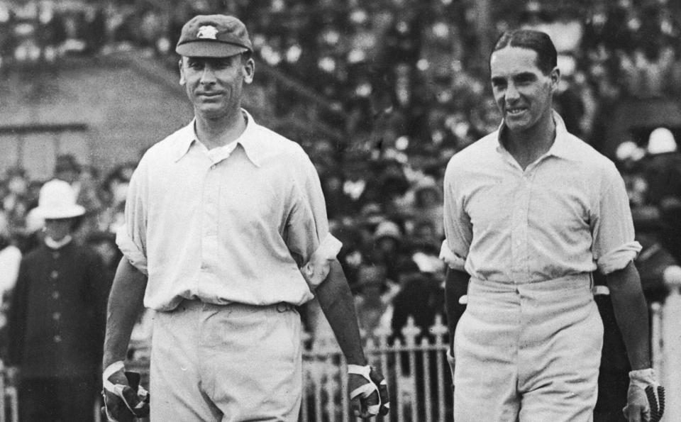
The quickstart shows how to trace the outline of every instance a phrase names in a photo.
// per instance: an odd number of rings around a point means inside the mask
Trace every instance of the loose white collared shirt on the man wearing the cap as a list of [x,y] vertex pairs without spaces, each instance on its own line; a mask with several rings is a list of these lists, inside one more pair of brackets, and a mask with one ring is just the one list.
[[208,150],[192,121],[153,145],[133,174],[116,242],[148,274],[148,308],[303,304],[341,247],[304,150],[243,113],[235,142]]

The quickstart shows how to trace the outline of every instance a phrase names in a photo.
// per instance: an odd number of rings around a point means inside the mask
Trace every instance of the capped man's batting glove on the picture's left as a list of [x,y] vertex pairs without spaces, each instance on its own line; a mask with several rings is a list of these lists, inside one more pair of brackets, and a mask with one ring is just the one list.
[[126,372],[123,362],[109,365],[102,374],[103,416],[109,422],[131,422],[149,415],[149,393],[140,386],[138,372]]

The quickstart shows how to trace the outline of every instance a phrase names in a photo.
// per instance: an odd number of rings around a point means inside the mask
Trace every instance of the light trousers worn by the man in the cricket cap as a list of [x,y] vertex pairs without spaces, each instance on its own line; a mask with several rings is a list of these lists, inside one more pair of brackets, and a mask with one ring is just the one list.
[[297,421],[300,334],[288,304],[185,300],[155,313],[150,420]]

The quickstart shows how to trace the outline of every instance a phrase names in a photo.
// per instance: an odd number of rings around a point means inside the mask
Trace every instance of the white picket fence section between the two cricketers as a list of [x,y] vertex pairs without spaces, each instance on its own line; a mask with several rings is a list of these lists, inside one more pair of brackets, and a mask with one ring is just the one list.
[[[388,344],[390,331],[377,331],[367,338],[365,351],[370,365],[380,370],[391,390],[390,416],[377,420],[451,420],[453,394],[445,357],[447,327],[437,316],[428,331],[432,340],[424,336],[417,343],[421,329],[410,317],[402,329],[404,343],[396,339]],[[300,421],[350,421],[346,363],[335,341],[308,336],[304,342]]]

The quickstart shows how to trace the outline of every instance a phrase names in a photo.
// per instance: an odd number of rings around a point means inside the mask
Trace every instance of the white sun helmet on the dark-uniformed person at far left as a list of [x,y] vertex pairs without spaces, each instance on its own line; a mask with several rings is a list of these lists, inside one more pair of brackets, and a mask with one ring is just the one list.
[[85,213],[83,206],[76,204],[76,192],[63,180],[53,179],[43,184],[38,196],[36,216],[45,220],[73,218]]

